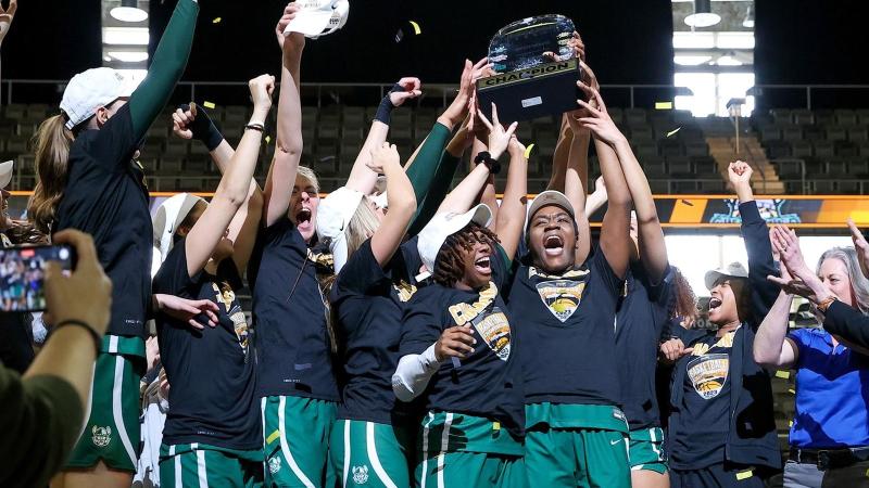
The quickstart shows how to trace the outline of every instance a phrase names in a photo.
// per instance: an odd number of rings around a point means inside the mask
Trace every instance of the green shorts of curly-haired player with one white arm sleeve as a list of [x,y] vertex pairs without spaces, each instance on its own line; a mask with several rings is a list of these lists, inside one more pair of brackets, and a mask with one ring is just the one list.
[[416,466],[419,488],[525,488],[521,439],[488,419],[429,412]]

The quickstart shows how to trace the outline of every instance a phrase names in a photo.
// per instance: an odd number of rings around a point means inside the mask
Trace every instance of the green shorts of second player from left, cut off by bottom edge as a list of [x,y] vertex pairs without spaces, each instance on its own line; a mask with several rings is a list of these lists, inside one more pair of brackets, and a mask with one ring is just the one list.
[[263,453],[204,444],[160,446],[160,486],[262,487]]

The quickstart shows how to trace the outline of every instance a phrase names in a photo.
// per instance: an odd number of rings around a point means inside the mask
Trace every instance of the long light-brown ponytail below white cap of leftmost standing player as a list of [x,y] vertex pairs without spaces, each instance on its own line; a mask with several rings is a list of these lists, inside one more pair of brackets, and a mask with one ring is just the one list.
[[40,124],[34,136],[38,178],[27,203],[27,218],[45,234],[51,233],[54,213],[66,188],[70,147],[75,134],[65,124],[63,115],[55,115]]

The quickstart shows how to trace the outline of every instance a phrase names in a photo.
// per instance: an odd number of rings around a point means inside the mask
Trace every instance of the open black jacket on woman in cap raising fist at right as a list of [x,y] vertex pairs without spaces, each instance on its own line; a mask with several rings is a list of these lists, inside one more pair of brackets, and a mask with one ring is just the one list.
[[[748,284],[751,286],[752,317],[743,321],[733,337],[729,377],[730,431],[725,446],[725,457],[733,463],[781,468],[781,451],[772,413],[772,387],[764,368],[754,361],[754,337],[757,328],[769,312],[779,295],[779,287],[767,281],[767,275],[778,275],[772,260],[772,247],[766,221],[760,217],[755,202],[740,204],[742,237],[748,254]],[[698,339],[715,334],[706,330],[673,328],[673,335],[690,347]],[[739,360],[739,359],[742,360]],[[690,356],[680,359],[670,382],[670,403],[682,402]],[[691,435],[692,419],[683,418],[675,409],[669,420],[669,437]]]

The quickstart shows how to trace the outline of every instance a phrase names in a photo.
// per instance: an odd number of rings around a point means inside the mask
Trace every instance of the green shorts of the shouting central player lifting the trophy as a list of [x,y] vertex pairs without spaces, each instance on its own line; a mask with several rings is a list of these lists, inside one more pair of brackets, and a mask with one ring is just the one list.
[[528,486],[630,488],[628,424],[612,406],[526,406]]

